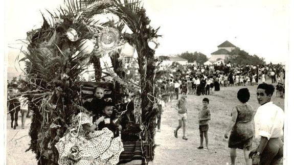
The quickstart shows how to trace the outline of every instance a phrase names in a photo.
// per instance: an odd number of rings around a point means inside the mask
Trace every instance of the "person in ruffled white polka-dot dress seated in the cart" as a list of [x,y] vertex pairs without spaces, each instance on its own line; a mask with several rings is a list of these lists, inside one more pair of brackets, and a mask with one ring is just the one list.
[[66,133],[56,148],[59,152],[58,164],[117,164],[124,151],[119,137],[108,128],[95,131],[104,116],[92,123],[92,111],[80,112],[74,117],[71,129]]

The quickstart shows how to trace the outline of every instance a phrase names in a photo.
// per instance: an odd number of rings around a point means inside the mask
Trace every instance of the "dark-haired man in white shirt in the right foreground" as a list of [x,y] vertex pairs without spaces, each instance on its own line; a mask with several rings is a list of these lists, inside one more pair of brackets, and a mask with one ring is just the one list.
[[260,138],[259,146],[249,156],[256,154],[253,164],[278,164],[283,157],[284,111],[270,102],[275,87],[270,84],[259,84],[257,101],[261,105],[254,116],[255,135]]

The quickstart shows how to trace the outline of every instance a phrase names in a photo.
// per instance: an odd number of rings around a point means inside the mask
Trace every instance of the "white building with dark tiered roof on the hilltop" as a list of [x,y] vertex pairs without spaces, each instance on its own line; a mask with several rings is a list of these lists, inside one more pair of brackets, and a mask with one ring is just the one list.
[[217,46],[217,51],[211,53],[211,57],[208,59],[209,62],[207,61],[204,64],[209,65],[210,63],[212,63],[219,65],[221,64],[221,62],[224,63],[224,59],[228,58],[230,52],[236,48],[237,47],[231,42],[224,41]]

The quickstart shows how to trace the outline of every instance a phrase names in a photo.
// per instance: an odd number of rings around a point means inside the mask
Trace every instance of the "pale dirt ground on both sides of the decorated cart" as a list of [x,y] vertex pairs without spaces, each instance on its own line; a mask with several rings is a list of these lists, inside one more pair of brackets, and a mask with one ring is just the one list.
[[[178,131],[178,138],[173,136],[173,130],[177,126],[176,110],[172,106],[176,100],[166,104],[162,115],[161,132],[156,132],[155,157],[149,164],[230,164],[230,149],[228,139],[223,137],[224,130],[231,120],[230,111],[238,104],[237,91],[244,86],[221,87],[220,91],[211,91],[209,96],[188,95],[188,120],[186,136],[188,140],[182,139],[182,129]],[[259,105],[256,100],[255,86],[246,86],[251,93],[248,104],[256,110]],[[211,109],[211,121],[208,131],[209,150],[199,150],[198,132],[198,109],[202,107],[202,99],[207,97]],[[272,97],[274,104],[284,109],[284,99]],[[21,125],[21,117],[18,124]],[[6,162],[14,164],[37,164],[32,151],[25,152],[29,147],[30,137],[28,136],[30,119],[27,119],[25,129],[20,126],[13,130],[10,128],[10,115],[7,117],[7,140],[6,140]],[[245,164],[243,152],[237,150],[236,164]]]

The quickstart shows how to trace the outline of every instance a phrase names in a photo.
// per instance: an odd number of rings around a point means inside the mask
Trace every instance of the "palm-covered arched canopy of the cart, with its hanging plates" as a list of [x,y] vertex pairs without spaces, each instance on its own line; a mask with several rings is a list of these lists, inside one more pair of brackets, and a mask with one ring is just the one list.
[[[22,93],[33,112],[28,150],[36,154],[38,164],[57,163],[56,143],[69,131],[83,100],[93,95],[91,89],[99,85],[108,89],[106,95],[116,105],[127,93],[134,93],[140,138],[124,143],[125,151],[132,154],[122,153],[120,163],[136,156],[141,156],[141,163],[153,160],[158,111],[154,50],[159,36],[142,4],[67,0],[42,16],[42,27],[27,33],[25,58],[20,60],[26,63]],[[83,77],[89,72],[95,73],[92,79]]]

